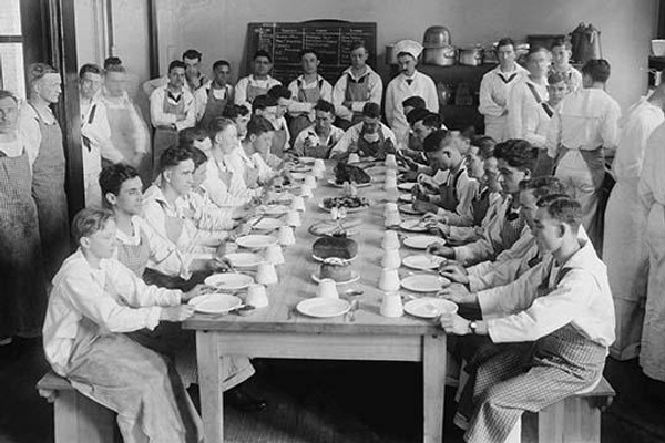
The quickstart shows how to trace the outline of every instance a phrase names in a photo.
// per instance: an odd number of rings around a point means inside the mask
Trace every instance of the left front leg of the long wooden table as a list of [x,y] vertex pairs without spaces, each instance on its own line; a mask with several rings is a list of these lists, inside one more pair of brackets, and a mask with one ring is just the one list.
[[215,332],[196,331],[196,360],[205,441],[224,442],[224,395],[219,375],[222,356]]

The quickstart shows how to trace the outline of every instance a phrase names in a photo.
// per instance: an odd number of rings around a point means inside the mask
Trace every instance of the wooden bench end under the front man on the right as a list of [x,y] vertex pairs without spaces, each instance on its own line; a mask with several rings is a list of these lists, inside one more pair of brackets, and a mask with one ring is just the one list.
[[601,412],[616,392],[603,378],[593,391],[569,396],[539,413],[522,416],[523,443],[600,443]]

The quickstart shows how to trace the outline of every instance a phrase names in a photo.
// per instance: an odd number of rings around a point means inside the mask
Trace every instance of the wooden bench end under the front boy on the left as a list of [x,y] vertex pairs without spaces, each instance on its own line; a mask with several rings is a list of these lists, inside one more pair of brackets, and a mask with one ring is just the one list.
[[114,443],[115,413],[79,393],[53,372],[38,383],[39,394],[53,403],[55,443]]

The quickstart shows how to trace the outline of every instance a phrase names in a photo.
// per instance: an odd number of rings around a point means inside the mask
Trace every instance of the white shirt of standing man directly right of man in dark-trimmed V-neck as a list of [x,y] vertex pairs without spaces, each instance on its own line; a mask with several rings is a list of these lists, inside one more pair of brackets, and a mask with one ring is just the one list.
[[[529,85],[534,87],[540,102],[535,100]],[[538,84],[524,76],[515,84],[508,99],[508,138],[523,138],[536,147],[544,148],[551,120],[543,107],[543,103],[549,106],[548,100],[550,94],[546,81],[544,84]]]

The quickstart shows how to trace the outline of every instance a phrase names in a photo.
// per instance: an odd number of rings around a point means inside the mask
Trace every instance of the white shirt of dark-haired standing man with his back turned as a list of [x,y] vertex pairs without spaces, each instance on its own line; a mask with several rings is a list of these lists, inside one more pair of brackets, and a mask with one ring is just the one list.
[[616,147],[620,117],[618,103],[603,90],[585,87],[566,95],[548,130],[548,155],[555,158],[561,145],[590,151]]

